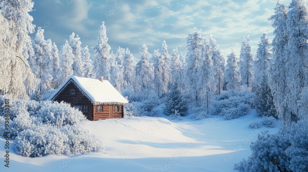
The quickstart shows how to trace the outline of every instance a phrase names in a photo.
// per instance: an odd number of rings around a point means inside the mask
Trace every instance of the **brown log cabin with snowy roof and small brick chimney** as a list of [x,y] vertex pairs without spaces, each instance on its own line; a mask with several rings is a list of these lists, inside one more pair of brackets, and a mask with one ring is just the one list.
[[70,76],[49,97],[51,101],[71,104],[89,120],[123,118],[128,101],[110,84],[99,79]]

